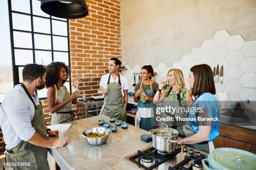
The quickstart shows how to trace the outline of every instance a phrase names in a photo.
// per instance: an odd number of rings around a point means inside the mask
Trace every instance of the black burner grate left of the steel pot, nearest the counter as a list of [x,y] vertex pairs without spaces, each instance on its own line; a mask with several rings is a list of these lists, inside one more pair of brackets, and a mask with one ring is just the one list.
[[[161,155],[157,152],[157,150],[154,147],[151,147],[144,151],[138,150],[138,153],[136,155],[131,156],[129,158],[129,160],[133,161],[134,163],[136,163],[137,165],[141,166],[142,168],[144,168],[146,170],[152,170],[152,169],[158,167],[160,164],[164,163],[166,160],[169,160],[170,158],[172,158],[175,155],[177,155],[178,153],[180,153],[180,151],[181,151],[180,149],[176,149],[168,155]],[[154,160],[154,165],[146,167],[141,164],[141,159],[145,157],[145,154],[146,154],[146,156],[148,156],[148,154],[149,154],[149,157]],[[138,160],[136,160],[136,159],[138,159]]]

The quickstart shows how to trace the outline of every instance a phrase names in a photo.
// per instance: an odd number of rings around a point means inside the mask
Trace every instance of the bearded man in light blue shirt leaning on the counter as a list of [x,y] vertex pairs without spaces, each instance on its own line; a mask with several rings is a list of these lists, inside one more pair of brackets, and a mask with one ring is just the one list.
[[42,105],[35,94],[45,87],[45,72],[43,65],[25,65],[23,83],[7,93],[0,107],[6,161],[15,163],[14,170],[50,170],[47,148],[67,143],[66,139],[46,139],[47,134],[58,136],[58,130],[47,129]]

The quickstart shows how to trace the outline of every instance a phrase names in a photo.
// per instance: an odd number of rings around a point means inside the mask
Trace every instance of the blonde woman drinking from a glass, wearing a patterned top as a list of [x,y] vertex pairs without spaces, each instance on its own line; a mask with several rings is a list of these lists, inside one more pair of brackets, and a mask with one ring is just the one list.
[[[190,95],[190,91],[185,88],[186,85],[181,70],[177,68],[169,70],[167,74],[167,81],[168,84],[164,92],[162,92],[162,89],[165,82],[159,83],[159,89],[154,96],[153,102],[162,102],[163,107],[168,108],[166,112],[163,113],[162,118],[169,118],[169,120],[161,121],[161,123],[166,123],[169,127],[177,129],[179,134],[183,136],[183,125],[185,124],[185,121],[177,121],[176,117],[186,117],[185,110],[188,103],[192,100],[192,97]],[[176,110],[173,110],[175,108]]]

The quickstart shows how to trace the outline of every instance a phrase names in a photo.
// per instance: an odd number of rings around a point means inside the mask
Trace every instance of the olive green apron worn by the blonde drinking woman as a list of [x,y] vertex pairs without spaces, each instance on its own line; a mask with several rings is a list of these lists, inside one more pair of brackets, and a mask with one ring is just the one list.
[[[170,89],[172,90],[172,89]],[[163,107],[182,107],[181,102],[178,100],[177,96],[174,95],[167,95],[166,97],[164,97],[163,101],[162,101],[162,105]],[[168,125],[168,127],[172,127],[174,129],[177,129],[179,131],[179,135],[184,136],[184,132],[183,132],[183,125],[185,124],[184,121],[176,121],[175,117],[181,117],[181,118],[185,118],[186,115],[184,112],[174,112],[174,114],[172,113],[163,113],[164,118],[167,117],[173,117],[174,121],[161,121],[161,123],[165,123]]]

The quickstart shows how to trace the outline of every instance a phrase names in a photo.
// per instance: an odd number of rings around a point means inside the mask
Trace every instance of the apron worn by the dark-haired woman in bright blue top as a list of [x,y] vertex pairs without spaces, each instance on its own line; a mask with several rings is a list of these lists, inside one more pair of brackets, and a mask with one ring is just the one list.
[[[193,105],[194,102],[192,102],[190,107]],[[192,136],[195,134],[195,131],[194,131],[192,125],[189,124],[189,122],[186,122],[186,124],[183,126],[183,132],[184,132],[185,137],[189,137],[189,136]],[[204,142],[201,142],[198,144],[190,144],[188,146],[191,148],[202,150],[206,153],[210,153],[209,143],[207,141],[204,141]]]

